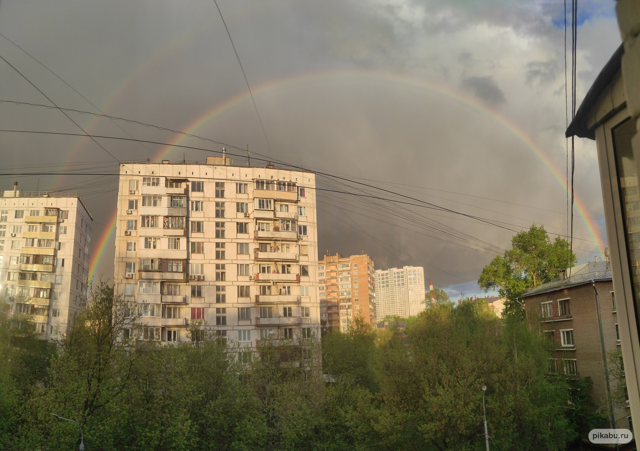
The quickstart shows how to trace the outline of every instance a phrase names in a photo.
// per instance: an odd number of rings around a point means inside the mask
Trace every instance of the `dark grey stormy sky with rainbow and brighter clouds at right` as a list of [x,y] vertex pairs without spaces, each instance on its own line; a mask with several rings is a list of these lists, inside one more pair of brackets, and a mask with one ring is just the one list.
[[[578,104],[620,45],[614,4],[579,2]],[[454,298],[483,295],[479,273],[516,231],[536,223],[552,238],[568,235],[562,2],[218,0],[218,6],[255,107],[212,1],[0,0],[1,129],[81,134],[82,127],[221,149],[68,111],[76,125],[58,109],[7,100],[54,103],[249,146],[254,158],[317,171],[320,187],[341,191],[318,193],[321,258],[326,251],[364,252],[380,269],[419,265],[427,281]],[[212,155],[98,141],[0,132],[0,168],[115,173],[118,162],[202,162]],[[12,189],[15,180],[25,191],[79,191],[94,219],[92,275],[111,278],[117,178],[0,176],[0,189]],[[579,263],[604,258],[600,177],[589,139],[575,141],[574,188]],[[371,193],[408,203],[353,196]]]

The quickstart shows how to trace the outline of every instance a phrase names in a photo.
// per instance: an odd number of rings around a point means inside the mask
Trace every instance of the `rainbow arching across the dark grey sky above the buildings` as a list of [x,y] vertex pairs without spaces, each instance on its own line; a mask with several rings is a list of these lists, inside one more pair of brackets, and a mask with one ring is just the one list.
[[[166,56],[165,52],[161,55],[163,58]],[[157,56],[154,60],[159,59],[161,56]],[[140,77],[140,74],[148,70],[151,67],[151,64],[145,64],[145,68],[141,68],[137,70],[134,74],[134,77]],[[405,84],[407,86],[413,86],[416,88],[420,88],[423,90],[430,91],[432,93],[436,93],[438,95],[442,95],[447,99],[455,100],[456,102],[463,104],[470,109],[481,113],[482,115],[488,116],[494,122],[496,122],[500,127],[508,131],[510,134],[515,136],[519,141],[524,143],[524,145],[534,154],[543,164],[548,168],[548,170],[552,173],[553,177],[556,179],[556,182],[561,186],[565,193],[570,193],[570,188],[566,184],[566,180],[564,179],[564,173],[557,168],[547,154],[538,146],[535,141],[525,132],[521,127],[511,122],[504,115],[498,113],[497,111],[493,111],[488,106],[480,102],[474,97],[467,95],[465,93],[461,93],[459,91],[452,90],[448,86],[444,86],[442,84],[432,83],[429,81],[425,81],[423,79],[419,79],[416,77],[411,77],[408,75],[401,74],[392,74],[392,73],[384,73],[384,72],[370,72],[365,70],[334,70],[327,72],[310,72],[304,74],[293,75],[291,77],[275,79],[272,81],[268,81],[267,83],[261,84],[256,88],[253,88],[254,97],[261,94],[266,93],[268,91],[284,88],[286,86],[290,86],[295,83],[303,83],[308,81],[319,81],[326,79],[339,79],[340,77],[360,77],[360,78],[368,78],[376,81],[392,81],[394,83]],[[127,86],[130,86],[131,83],[125,83],[122,90]],[[112,99],[115,98],[116,95],[112,96]],[[203,125],[208,122],[211,122],[217,116],[229,111],[233,107],[241,104],[242,102],[246,102],[250,100],[250,95],[248,91],[243,91],[237,93],[236,95],[229,97],[228,99],[212,106],[210,109],[207,109],[200,115],[196,116],[191,122],[189,122],[186,127],[184,127],[183,132],[189,134],[195,134],[198,129],[200,129]],[[111,102],[109,102],[111,103]],[[159,154],[159,159],[166,159],[168,155],[175,150],[176,145],[180,145],[188,136],[177,136],[175,139],[170,141],[166,146],[165,150]],[[582,199],[578,196],[574,196],[574,205],[575,209],[581,217],[586,229],[588,230],[588,235],[595,242],[598,253],[600,253],[600,257],[604,258],[604,244],[603,239],[600,237],[598,233],[598,224],[595,220],[588,218],[588,209],[586,204],[582,201]],[[106,244],[111,240],[113,233],[115,232],[116,226],[116,212],[113,214],[113,218],[109,221],[109,228],[106,228],[102,233],[99,242],[97,252],[94,253],[95,257],[92,258],[92,264],[90,266],[90,274],[93,274],[95,268],[99,265],[102,256],[104,255],[104,249],[106,249]]]

